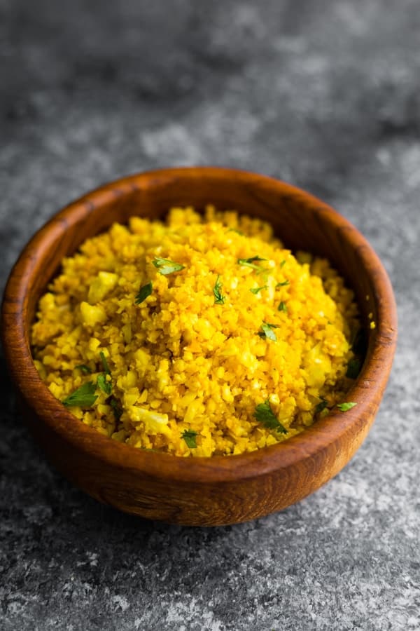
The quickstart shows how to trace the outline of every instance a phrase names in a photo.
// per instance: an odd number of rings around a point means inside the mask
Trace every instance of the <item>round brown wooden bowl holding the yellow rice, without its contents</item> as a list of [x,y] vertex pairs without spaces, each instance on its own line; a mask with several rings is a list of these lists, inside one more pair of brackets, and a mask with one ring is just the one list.
[[[356,292],[367,331],[363,369],[346,400],[279,445],[239,456],[180,458],[106,438],[77,421],[43,384],[29,348],[36,304],[63,257],[86,238],[127,222],[157,219],[172,205],[261,217],[283,243],[330,259]],[[369,327],[373,314],[376,329]],[[365,439],[391,370],[397,337],[393,291],[363,236],[313,196],[275,179],[223,168],[175,168],[132,175],[71,203],[20,255],[3,297],[3,346],[25,419],[50,461],[94,498],[128,513],[176,524],[234,524],[281,510],[312,493],[351,459]]]

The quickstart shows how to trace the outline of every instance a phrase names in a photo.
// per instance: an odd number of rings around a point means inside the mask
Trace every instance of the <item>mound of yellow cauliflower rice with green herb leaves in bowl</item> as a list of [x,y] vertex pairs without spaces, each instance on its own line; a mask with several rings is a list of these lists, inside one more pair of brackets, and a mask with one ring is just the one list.
[[353,293],[269,224],[208,206],[88,239],[41,297],[42,379],[77,419],[176,456],[274,445],[349,388]]

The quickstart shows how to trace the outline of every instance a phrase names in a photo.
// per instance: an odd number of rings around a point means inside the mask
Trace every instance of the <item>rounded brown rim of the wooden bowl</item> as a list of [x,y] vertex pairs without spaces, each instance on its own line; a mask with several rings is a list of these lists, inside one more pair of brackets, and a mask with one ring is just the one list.
[[[271,447],[231,456],[184,457],[172,454],[147,452],[130,445],[111,440],[84,423],[75,423],[75,417],[57,400],[41,380],[31,358],[29,331],[25,327],[31,274],[36,269],[40,250],[48,251],[52,236],[66,228],[79,217],[93,212],[102,205],[115,201],[116,197],[134,189],[141,189],[152,182],[156,186],[173,179],[211,177],[220,180],[235,179],[238,184],[262,186],[288,194],[316,208],[328,220],[345,233],[346,239],[358,248],[365,271],[372,280],[377,305],[376,329],[371,332],[372,348],[358,379],[349,390],[349,399],[357,406],[348,412],[330,412],[304,432]],[[174,202],[175,203],[175,202]],[[240,211],[239,211],[240,212]],[[23,248],[3,294],[2,340],[6,362],[15,386],[24,402],[32,408],[39,421],[48,425],[64,440],[95,458],[153,479],[168,482],[213,484],[239,482],[247,478],[267,475],[279,469],[290,468],[297,462],[313,459],[332,443],[349,438],[356,426],[363,429],[366,416],[372,415],[372,398],[384,391],[391,371],[397,339],[397,313],[393,289],[388,275],[370,243],[348,219],[315,196],[302,189],[267,175],[246,170],[200,166],[162,168],[120,177],[99,186],[66,205],[43,224]],[[29,376],[29,378],[28,378]]]

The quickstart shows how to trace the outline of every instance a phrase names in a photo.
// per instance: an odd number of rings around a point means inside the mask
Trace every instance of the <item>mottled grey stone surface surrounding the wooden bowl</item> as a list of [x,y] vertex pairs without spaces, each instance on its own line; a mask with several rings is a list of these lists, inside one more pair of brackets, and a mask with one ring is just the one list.
[[74,489],[1,361],[0,628],[420,629],[420,11],[416,0],[0,0],[1,290],[55,210],[120,175],[233,165],[365,233],[399,306],[370,436],[335,480],[219,529]]

